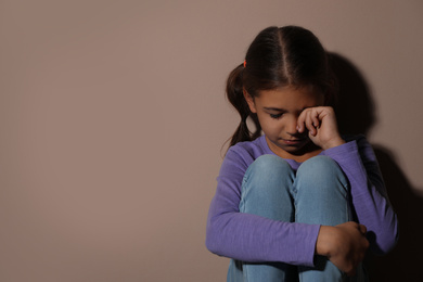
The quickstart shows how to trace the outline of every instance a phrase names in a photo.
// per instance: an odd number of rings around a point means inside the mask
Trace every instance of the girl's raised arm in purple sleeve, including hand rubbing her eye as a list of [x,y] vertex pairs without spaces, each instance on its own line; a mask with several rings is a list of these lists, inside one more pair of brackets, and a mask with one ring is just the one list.
[[359,223],[368,229],[371,249],[385,254],[398,240],[397,216],[394,213],[379,169],[376,157],[364,137],[345,144],[330,106],[309,107],[298,117],[298,131],[309,132],[311,141],[325,150],[342,167],[350,183],[352,208]]

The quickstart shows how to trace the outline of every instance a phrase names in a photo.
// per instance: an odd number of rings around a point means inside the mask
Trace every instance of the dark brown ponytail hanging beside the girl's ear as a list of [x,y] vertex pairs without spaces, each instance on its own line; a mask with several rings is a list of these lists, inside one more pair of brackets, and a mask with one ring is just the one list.
[[[227,97],[229,102],[235,107],[241,116],[240,125],[231,138],[230,146],[243,141],[253,141],[261,134],[261,127],[256,114],[249,111],[248,104],[244,99],[242,76],[244,65],[240,64],[229,75],[227,81]],[[248,116],[256,126],[256,131],[252,133],[247,126]]]

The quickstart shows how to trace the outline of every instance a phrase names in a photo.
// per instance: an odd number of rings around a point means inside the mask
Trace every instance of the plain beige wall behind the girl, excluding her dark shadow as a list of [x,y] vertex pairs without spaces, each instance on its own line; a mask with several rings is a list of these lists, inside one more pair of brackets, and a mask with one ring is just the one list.
[[223,84],[286,24],[359,70],[369,139],[423,191],[421,1],[3,0],[0,280],[225,281],[204,247]]

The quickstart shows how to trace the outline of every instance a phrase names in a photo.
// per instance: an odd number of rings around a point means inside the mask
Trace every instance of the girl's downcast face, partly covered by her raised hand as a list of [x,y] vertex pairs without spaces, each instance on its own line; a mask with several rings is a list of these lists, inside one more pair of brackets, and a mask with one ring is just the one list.
[[324,105],[323,94],[311,87],[285,87],[260,91],[254,99],[246,92],[244,97],[249,110],[257,114],[266,141],[273,153],[283,158],[298,159],[319,150],[308,138],[307,131],[298,132],[297,119],[305,108]]

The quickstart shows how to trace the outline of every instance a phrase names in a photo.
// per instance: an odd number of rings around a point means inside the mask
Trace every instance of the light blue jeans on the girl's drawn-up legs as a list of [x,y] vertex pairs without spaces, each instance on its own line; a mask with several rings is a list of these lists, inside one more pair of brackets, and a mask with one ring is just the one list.
[[[245,172],[240,211],[286,222],[344,223],[351,220],[348,180],[328,156],[311,157],[295,172],[283,158],[262,155]],[[326,257],[318,255],[315,267],[232,259],[228,282],[367,281],[361,265],[357,272],[357,277],[348,278]]]

